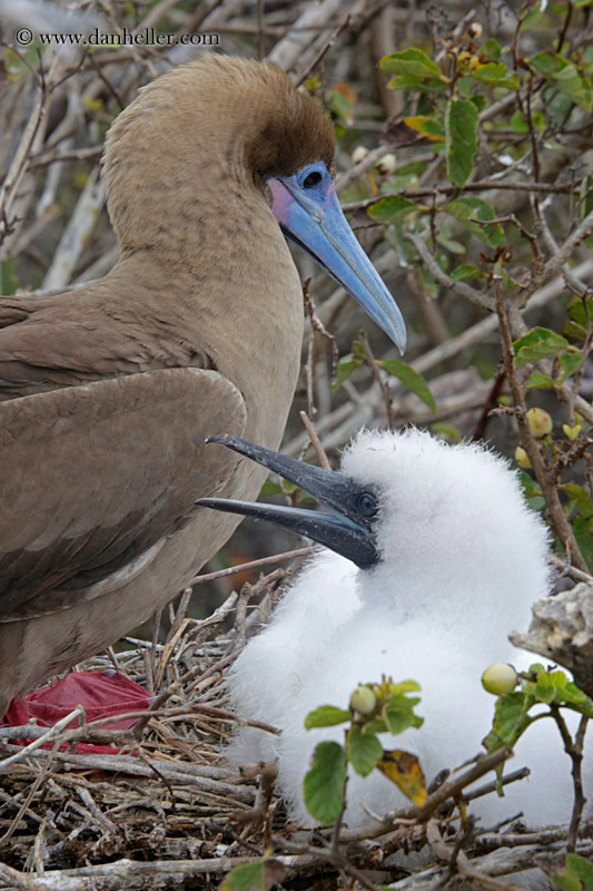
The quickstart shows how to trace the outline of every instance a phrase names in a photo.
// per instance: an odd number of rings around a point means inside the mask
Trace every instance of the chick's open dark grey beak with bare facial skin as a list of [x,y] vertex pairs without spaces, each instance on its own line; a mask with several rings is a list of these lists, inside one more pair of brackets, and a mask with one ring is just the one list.
[[228,433],[208,437],[206,442],[226,446],[267,467],[268,470],[274,470],[280,477],[299,486],[330,512],[234,501],[227,498],[200,498],[196,505],[283,526],[325,545],[362,569],[367,569],[378,561],[379,555],[373,531],[378,499],[372,487],[360,486],[344,473],[296,461],[294,458]]

